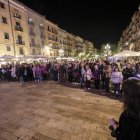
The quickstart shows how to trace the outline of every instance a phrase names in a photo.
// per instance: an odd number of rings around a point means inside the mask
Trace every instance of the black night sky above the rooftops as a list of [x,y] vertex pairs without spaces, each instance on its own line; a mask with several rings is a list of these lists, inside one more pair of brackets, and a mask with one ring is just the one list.
[[68,32],[92,41],[95,47],[117,43],[140,4],[140,0],[19,1]]

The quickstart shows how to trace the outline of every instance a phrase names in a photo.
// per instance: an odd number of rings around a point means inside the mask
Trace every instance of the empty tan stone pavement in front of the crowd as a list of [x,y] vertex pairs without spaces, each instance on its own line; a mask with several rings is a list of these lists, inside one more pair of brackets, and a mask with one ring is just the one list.
[[122,104],[53,82],[0,83],[0,140],[113,140]]

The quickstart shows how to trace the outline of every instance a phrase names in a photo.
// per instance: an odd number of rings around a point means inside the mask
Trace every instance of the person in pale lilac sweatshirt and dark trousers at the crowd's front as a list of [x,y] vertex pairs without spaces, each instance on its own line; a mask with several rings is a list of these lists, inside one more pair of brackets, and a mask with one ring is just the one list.
[[122,80],[123,80],[122,73],[119,71],[118,67],[115,67],[111,75],[111,81],[114,87],[114,95],[118,97],[120,96],[120,85]]

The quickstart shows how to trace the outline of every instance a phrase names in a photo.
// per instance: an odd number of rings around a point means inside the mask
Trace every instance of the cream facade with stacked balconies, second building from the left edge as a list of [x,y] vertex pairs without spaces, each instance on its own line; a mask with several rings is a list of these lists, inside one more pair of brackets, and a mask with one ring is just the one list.
[[15,56],[29,55],[29,36],[26,12],[23,5],[9,1],[9,11],[15,47]]

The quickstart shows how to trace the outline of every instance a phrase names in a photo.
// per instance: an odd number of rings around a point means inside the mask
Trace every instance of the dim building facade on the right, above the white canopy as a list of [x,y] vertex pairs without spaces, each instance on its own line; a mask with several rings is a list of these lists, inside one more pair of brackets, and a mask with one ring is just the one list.
[[140,51],[140,7],[131,19],[130,24],[123,31],[118,42],[119,51],[132,50]]

